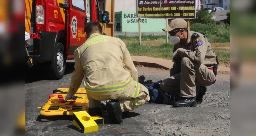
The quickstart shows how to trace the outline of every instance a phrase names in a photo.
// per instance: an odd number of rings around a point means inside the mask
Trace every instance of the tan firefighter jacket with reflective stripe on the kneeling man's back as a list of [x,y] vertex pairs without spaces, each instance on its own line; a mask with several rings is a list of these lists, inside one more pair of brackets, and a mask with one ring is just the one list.
[[75,71],[69,93],[75,94],[82,80],[87,91],[102,95],[123,93],[133,80],[138,81],[125,43],[116,37],[92,34],[74,52]]

